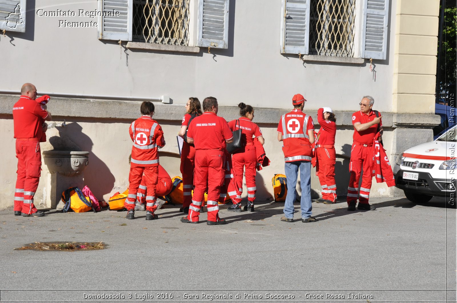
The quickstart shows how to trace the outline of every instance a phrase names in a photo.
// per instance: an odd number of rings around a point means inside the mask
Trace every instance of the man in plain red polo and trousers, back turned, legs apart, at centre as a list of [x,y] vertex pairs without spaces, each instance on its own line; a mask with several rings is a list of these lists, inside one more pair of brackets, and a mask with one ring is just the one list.
[[189,214],[182,217],[181,222],[198,223],[205,190],[208,188],[207,225],[222,225],[227,222],[219,218],[218,200],[225,178],[226,142],[233,141],[233,134],[228,128],[227,121],[217,115],[216,98],[205,98],[203,111],[203,115],[192,120],[187,131],[187,142],[195,145],[195,189]]

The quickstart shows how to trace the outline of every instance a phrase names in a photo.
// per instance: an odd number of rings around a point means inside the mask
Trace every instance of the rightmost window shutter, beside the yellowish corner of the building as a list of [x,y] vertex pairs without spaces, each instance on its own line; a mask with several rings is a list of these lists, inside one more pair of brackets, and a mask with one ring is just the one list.
[[361,57],[385,60],[389,0],[364,0]]

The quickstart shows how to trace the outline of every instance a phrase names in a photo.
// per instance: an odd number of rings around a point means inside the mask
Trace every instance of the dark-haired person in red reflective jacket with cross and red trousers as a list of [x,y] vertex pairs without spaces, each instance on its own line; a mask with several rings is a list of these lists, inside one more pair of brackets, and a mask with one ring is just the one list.
[[157,147],[165,146],[162,127],[152,119],[154,104],[145,101],[141,104],[141,117],[133,121],[129,128],[133,141],[130,174],[128,176],[128,199],[124,206],[127,219],[135,218],[135,201],[141,179],[146,178],[146,220],[154,220],[156,205],[156,186],[159,175],[159,152]]

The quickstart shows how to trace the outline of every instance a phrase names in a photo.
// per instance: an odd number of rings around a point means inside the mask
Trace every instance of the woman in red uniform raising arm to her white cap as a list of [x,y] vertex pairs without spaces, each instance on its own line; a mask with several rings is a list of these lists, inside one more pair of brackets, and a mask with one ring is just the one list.
[[333,204],[336,200],[335,184],[335,134],[336,118],[329,107],[317,111],[317,120],[320,130],[317,134],[316,144],[316,175],[322,187],[322,198],[317,203]]

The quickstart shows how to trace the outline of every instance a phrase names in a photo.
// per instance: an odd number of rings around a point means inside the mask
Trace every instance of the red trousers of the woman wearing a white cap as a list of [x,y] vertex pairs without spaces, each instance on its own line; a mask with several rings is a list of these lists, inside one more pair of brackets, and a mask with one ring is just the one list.
[[322,199],[335,202],[336,183],[335,183],[335,147],[316,148],[317,165],[316,174],[322,187]]

